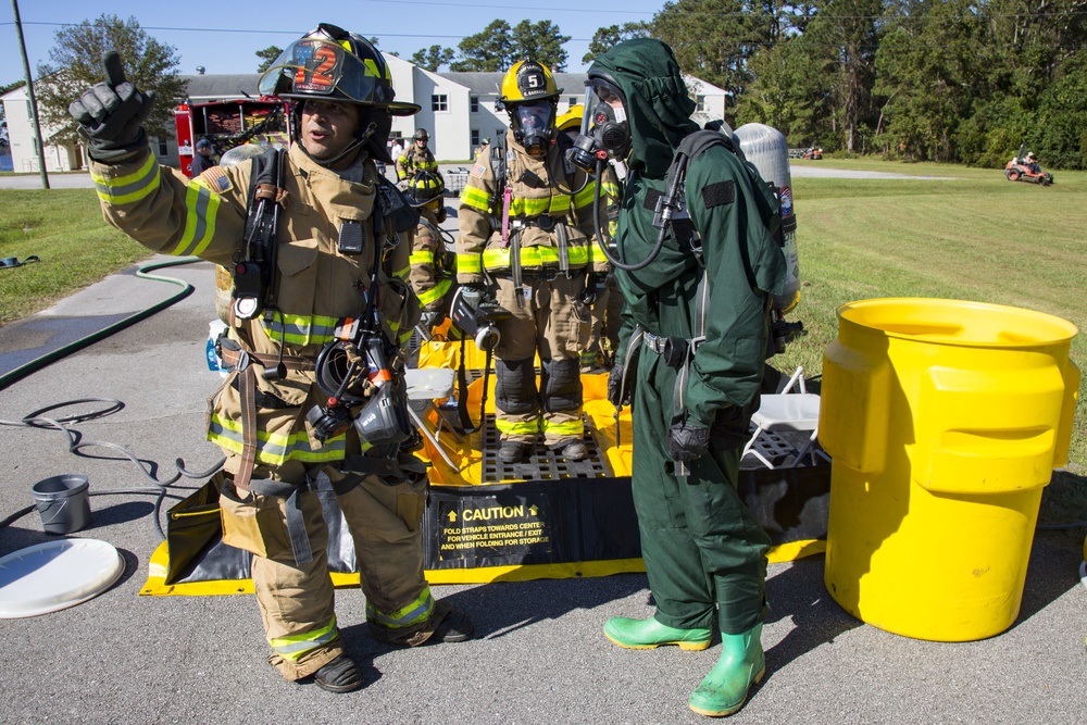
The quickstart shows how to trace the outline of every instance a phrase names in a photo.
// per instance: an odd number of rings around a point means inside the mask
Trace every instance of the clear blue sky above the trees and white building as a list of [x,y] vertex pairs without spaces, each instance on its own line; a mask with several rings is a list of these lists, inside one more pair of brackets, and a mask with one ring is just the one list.
[[[585,70],[582,55],[597,28],[627,22],[651,20],[663,0],[577,0],[517,3],[523,10],[509,10],[499,0],[323,0],[312,5],[285,0],[155,2],[154,0],[18,0],[23,36],[37,77],[38,63],[48,62],[53,37],[63,24],[76,24],[111,14],[136,17],[151,36],[174,46],[180,55],[178,70],[196,73],[198,65],[208,73],[253,73],[258,50],[275,45],[280,48],[315,27],[335,23],[366,37],[377,36],[379,48],[397,51],[410,59],[420,48],[434,43],[455,48],[467,35],[483,30],[499,17],[511,26],[523,20],[533,23],[550,20],[570,40],[567,71]],[[0,10],[0,84],[23,78],[14,13],[10,3]],[[320,7],[320,11],[310,8]]]

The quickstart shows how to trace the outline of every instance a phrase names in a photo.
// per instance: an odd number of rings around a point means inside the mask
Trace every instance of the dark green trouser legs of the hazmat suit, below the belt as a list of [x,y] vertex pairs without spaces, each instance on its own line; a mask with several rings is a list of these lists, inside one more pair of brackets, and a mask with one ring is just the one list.
[[632,487],[641,552],[661,624],[740,634],[766,614],[770,537],[737,495],[739,449],[721,449],[677,477],[667,455],[676,371],[649,349],[639,357]]

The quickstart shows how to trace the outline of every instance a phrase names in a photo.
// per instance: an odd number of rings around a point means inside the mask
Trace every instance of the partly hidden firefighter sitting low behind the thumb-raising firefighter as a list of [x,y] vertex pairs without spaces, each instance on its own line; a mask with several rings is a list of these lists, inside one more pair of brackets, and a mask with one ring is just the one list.
[[432,334],[449,316],[457,291],[457,258],[446,249],[440,227],[446,221],[446,185],[437,174],[420,172],[408,185],[408,197],[420,213],[411,250],[411,286],[423,309],[420,326]]

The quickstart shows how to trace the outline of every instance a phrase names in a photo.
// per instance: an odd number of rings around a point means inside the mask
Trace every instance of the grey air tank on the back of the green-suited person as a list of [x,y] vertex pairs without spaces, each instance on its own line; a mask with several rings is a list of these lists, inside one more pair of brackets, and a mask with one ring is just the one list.
[[734,132],[740,150],[763,180],[771,184],[782,202],[782,251],[788,275],[785,290],[774,297],[774,309],[783,314],[800,302],[800,260],[797,255],[797,215],[792,208],[792,176],[789,174],[789,149],[785,135],[772,126],[749,123]]

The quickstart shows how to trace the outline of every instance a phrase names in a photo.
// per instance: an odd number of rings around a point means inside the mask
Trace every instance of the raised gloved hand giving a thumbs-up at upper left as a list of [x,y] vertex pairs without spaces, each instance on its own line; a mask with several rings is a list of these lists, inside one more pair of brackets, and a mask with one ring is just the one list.
[[147,146],[143,120],[154,108],[154,92],[141,93],[125,80],[121,55],[108,50],[102,55],[105,82],[85,90],[68,105],[87,139],[87,152],[95,161],[115,163]]

